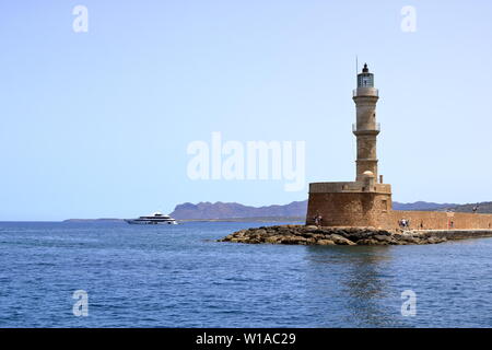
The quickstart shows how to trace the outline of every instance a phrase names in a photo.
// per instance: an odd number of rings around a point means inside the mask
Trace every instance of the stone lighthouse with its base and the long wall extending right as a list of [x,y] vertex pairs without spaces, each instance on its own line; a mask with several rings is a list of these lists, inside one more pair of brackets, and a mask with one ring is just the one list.
[[[383,183],[377,173],[377,137],[380,131],[376,121],[376,104],[379,92],[374,88],[374,74],[367,63],[356,74],[356,88],[352,100],[356,118],[352,131],[356,138],[356,175],[352,182],[321,182],[309,184],[306,225],[339,228],[350,235],[350,228],[399,229],[405,219],[412,230],[455,229],[491,230],[492,215],[436,211],[393,210],[391,185]],[[347,120],[350,120],[349,117]],[[349,122],[349,121],[348,121]],[[378,180],[379,179],[379,180]],[[358,244],[372,244],[358,241]]]

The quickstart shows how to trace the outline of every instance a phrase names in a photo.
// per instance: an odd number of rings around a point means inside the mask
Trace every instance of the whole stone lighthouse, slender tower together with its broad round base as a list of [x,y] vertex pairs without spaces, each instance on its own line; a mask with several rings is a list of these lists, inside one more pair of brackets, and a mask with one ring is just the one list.
[[377,177],[376,122],[378,91],[367,65],[358,74],[353,91],[356,122],[352,131],[358,139],[356,177],[354,182],[309,184],[306,223],[321,217],[324,226],[374,226],[388,222],[391,212],[391,186]]

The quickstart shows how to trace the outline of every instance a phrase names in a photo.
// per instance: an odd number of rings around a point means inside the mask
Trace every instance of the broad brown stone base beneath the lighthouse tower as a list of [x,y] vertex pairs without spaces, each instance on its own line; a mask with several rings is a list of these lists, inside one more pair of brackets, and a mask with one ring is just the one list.
[[391,186],[354,183],[309,184],[306,224],[384,228],[391,215]]

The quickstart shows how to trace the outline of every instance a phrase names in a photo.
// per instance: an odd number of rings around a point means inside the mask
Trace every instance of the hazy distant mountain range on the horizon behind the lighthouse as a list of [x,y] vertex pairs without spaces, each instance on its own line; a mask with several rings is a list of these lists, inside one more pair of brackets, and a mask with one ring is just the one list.
[[[445,210],[454,209],[466,206],[458,206],[454,203],[434,203],[418,201],[414,203],[400,203],[397,201],[393,202],[393,208],[395,210]],[[468,210],[468,207],[464,210]],[[480,208],[480,212],[485,212],[485,206]],[[490,210],[492,212],[492,203],[490,203]],[[471,207],[469,208],[471,211]],[[267,207],[250,207],[244,206],[236,202],[199,202],[178,205],[171,213],[172,218],[175,219],[234,219],[234,218],[303,218],[307,212],[307,200],[304,201],[293,201],[284,206],[267,206]]]

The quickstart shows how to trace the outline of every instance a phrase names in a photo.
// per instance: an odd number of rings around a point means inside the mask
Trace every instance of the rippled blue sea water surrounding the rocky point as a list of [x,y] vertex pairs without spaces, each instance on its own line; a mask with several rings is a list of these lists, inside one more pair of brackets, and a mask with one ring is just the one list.
[[[0,327],[492,326],[492,238],[215,242],[263,224],[0,223]],[[86,317],[73,315],[77,290]],[[405,290],[414,316],[401,314]]]

